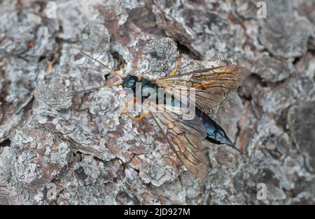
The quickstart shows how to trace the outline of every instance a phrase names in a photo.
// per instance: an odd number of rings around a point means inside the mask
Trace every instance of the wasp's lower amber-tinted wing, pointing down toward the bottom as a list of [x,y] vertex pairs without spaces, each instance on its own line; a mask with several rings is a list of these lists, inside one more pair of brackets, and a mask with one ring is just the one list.
[[207,176],[209,165],[201,142],[207,134],[200,119],[181,119],[181,109],[153,112],[152,107],[154,103],[148,110],[183,165],[196,176]]

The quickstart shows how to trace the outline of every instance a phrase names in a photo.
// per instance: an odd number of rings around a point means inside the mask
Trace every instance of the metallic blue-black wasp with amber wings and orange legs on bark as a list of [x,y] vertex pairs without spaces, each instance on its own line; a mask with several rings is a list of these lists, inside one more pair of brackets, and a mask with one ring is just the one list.
[[[146,103],[147,111],[134,118],[134,120],[142,119],[144,116],[150,114],[160,130],[162,130],[169,145],[172,146],[176,156],[196,176],[206,176],[209,169],[204,147],[202,146],[202,141],[204,140],[214,144],[228,145],[239,153],[245,154],[232,143],[225,130],[216,121],[211,119],[206,112],[211,107],[220,105],[232,89],[237,88],[244,82],[250,73],[247,68],[242,66],[218,66],[193,70],[187,73],[177,73],[182,57],[179,56],[172,73],[165,77],[148,80],[145,77],[135,75],[123,77],[120,73],[113,70],[113,68],[106,66],[92,56],[84,52],[80,52],[80,54],[108,68],[120,77],[122,82],[78,91],[71,94],[71,96],[112,86],[123,86],[124,89],[131,89],[134,93],[137,93],[139,89],[142,93],[148,93],[146,91],[150,89],[151,93],[156,94],[154,98],[152,98],[152,95],[141,96],[140,100],[134,98],[133,103],[137,103],[138,101]],[[141,85],[137,86],[137,84]],[[159,96],[159,89],[163,89],[165,93],[171,93],[168,104],[165,95],[160,99],[156,98],[156,96]],[[181,89],[187,89],[188,93],[190,93],[190,90],[195,92],[195,112],[192,119],[183,119],[183,109],[186,109],[183,105],[187,103],[183,103],[182,101]],[[186,96],[187,98],[189,100],[188,95]],[[163,110],[155,110],[156,107]],[[172,110],[168,110],[169,107],[172,107]]]

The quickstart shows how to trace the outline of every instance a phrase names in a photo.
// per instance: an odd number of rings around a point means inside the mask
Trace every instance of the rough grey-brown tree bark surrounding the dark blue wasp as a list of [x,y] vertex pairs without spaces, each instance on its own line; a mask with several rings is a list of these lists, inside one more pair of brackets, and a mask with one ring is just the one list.
[[[315,204],[315,4],[265,1],[0,1],[1,204]],[[123,75],[232,60],[252,75],[209,112],[238,146],[205,142],[204,181],[154,121],[120,114]],[[199,61],[197,61],[199,60]],[[267,199],[256,198],[258,183]]]

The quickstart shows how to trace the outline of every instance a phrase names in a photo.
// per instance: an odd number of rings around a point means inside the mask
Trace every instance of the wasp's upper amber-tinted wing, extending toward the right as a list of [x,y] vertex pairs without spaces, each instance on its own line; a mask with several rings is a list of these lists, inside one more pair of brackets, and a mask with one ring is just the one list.
[[220,105],[232,89],[244,82],[249,73],[247,68],[241,66],[221,66],[160,77],[154,82],[176,98],[179,98],[180,89],[195,89],[195,105],[207,111]]

